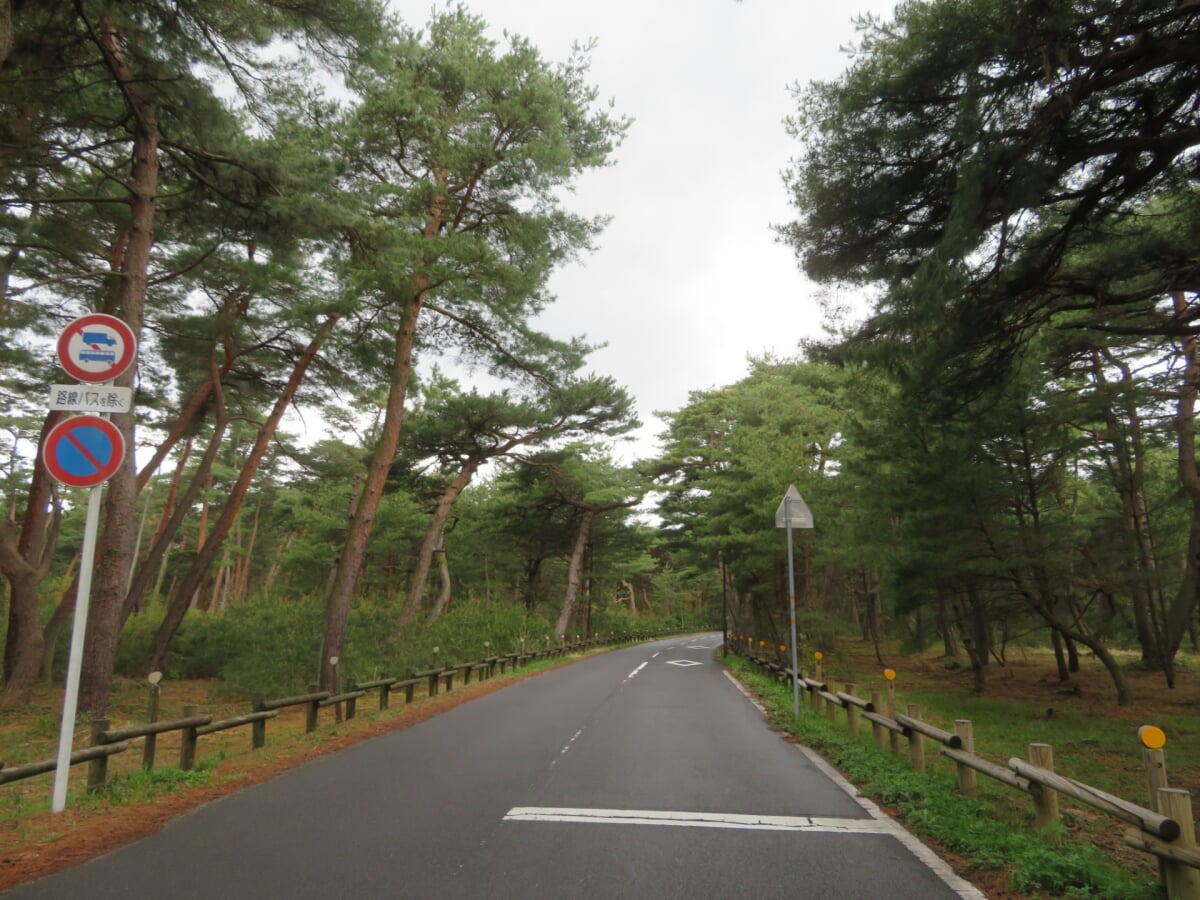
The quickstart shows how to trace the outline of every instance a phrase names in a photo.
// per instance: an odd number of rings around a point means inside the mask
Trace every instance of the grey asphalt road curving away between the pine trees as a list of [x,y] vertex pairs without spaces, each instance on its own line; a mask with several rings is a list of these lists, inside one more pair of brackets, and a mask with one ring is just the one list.
[[719,642],[522,680],[4,896],[980,896],[772,732]]

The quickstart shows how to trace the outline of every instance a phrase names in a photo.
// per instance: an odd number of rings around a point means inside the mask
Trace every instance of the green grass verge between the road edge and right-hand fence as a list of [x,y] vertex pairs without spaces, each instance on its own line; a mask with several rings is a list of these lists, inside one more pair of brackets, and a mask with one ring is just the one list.
[[776,728],[818,751],[865,797],[895,810],[910,830],[932,838],[973,869],[1007,872],[1008,889],[1106,900],[1160,896],[1156,883],[1118,869],[1091,844],[1073,840],[1064,828],[1031,830],[1027,820],[1032,806],[1027,798],[1024,805],[1016,805],[1013,791],[985,785],[984,776],[979,779],[980,797],[966,798],[958,792],[949,767],[930,766],[924,774],[914,772],[907,756],[875,746],[869,725],[856,738],[845,725],[833,724],[803,704],[797,720],[790,685],[758,674],[742,658],[730,656],[728,662],[758,695]]

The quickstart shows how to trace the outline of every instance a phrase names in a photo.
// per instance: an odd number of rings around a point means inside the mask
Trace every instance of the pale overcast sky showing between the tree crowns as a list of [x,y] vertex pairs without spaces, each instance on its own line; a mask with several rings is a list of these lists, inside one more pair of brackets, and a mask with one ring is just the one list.
[[[790,355],[821,332],[816,288],[772,224],[792,217],[781,172],[798,150],[788,86],[836,77],[862,12],[892,0],[470,0],[503,40],[553,62],[596,40],[592,77],[632,118],[616,164],[578,182],[571,208],[607,214],[598,251],[551,281],[557,337],[607,344],[590,368],[637,398],[644,422],[618,456],[646,457],[689,391],[737,382],[746,359]],[[392,0],[422,25],[426,0]]]

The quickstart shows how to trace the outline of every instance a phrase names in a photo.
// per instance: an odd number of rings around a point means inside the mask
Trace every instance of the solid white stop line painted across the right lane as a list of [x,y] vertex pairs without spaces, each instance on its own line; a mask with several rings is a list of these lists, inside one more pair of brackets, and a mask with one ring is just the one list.
[[834,834],[890,834],[886,822],[874,818],[818,816],[748,816],[734,812],[673,812],[641,809],[571,809],[515,806],[505,822],[575,822],[582,824],[649,824],[677,828],[733,828],[755,832],[826,832]]

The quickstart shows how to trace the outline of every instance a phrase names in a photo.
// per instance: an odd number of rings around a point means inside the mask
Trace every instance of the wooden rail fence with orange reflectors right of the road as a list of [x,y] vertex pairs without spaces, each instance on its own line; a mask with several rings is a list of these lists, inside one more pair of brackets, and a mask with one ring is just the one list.
[[[728,646],[754,662],[760,672],[780,683],[792,683],[792,668],[778,659],[755,654],[737,640]],[[906,713],[898,713],[892,678],[886,682],[886,690],[871,690],[870,700],[859,697],[853,683],[846,683],[844,690],[832,691],[821,677],[820,662],[811,677],[799,672],[797,683],[808,692],[814,713],[820,714],[823,708],[829,721],[836,721],[838,710],[845,710],[846,725],[852,734],[858,734],[862,721],[870,722],[875,745],[880,750],[904,752],[901,740],[907,740],[908,758],[918,772],[925,770],[926,739],[935,742],[940,755],[954,762],[959,791],[968,797],[978,793],[977,773],[1030,794],[1037,828],[1060,820],[1060,794],[1124,822],[1130,826],[1123,835],[1124,842],[1158,858],[1159,878],[1166,895],[1172,900],[1200,900],[1200,850],[1196,847],[1192,797],[1187,791],[1168,786],[1162,732],[1157,728],[1141,730],[1142,760],[1152,804],[1147,808],[1057,774],[1054,770],[1054,750],[1049,744],[1030,744],[1028,760],[1013,757],[1007,766],[976,755],[974,733],[968,720],[956,720],[954,731],[949,732],[923,721],[920,707],[914,703],[906,704]]]

